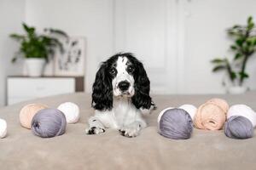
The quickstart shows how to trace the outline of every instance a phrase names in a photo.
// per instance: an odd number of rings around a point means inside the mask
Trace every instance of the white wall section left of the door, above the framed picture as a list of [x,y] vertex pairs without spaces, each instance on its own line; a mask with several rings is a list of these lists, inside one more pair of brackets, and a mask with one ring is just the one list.
[[86,90],[91,88],[99,61],[113,54],[112,0],[26,0],[26,22],[39,29],[60,28],[86,37]]

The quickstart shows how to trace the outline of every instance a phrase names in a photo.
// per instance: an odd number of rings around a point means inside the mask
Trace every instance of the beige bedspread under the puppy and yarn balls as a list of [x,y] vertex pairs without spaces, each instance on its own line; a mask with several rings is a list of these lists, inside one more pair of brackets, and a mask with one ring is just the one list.
[[[256,136],[237,140],[223,131],[194,129],[191,139],[166,139],[157,133],[156,117],[168,106],[185,103],[196,106],[207,99],[221,97],[230,105],[246,104],[256,110],[256,94],[243,95],[172,95],[154,96],[158,109],[146,117],[148,127],[137,138],[125,138],[108,129],[101,135],[86,135],[87,119],[93,115],[90,95],[66,94],[33,100],[0,109],[8,123],[8,136],[0,139],[0,169],[256,169]],[[56,107],[73,101],[81,109],[76,124],[68,124],[62,136],[41,139],[20,127],[19,111],[23,105],[40,102]]]

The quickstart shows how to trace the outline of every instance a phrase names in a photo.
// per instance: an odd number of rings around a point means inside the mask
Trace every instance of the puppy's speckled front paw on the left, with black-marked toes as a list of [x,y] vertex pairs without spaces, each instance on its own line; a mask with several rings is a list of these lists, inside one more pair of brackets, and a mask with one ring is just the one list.
[[89,128],[85,129],[85,133],[87,134],[99,134],[105,133],[105,127],[102,125],[102,122],[96,117],[91,116],[88,120]]

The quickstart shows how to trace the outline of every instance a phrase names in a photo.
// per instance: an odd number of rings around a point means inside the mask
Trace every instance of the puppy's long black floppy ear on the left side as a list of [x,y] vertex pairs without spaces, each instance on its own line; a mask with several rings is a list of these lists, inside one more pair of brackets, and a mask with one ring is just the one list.
[[111,77],[108,76],[108,65],[102,63],[96,73],[96,79],[92,86],[91,106],[99,111],[111,110],[113,107],[113,88]]

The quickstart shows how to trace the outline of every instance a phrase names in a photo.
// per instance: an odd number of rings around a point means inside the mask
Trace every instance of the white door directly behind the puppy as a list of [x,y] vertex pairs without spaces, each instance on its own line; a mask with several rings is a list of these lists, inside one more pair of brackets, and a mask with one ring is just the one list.
[[151,93],[176,94],[177,3],[173,0],[115,2],[115,52],[128,51],[143,61]]

